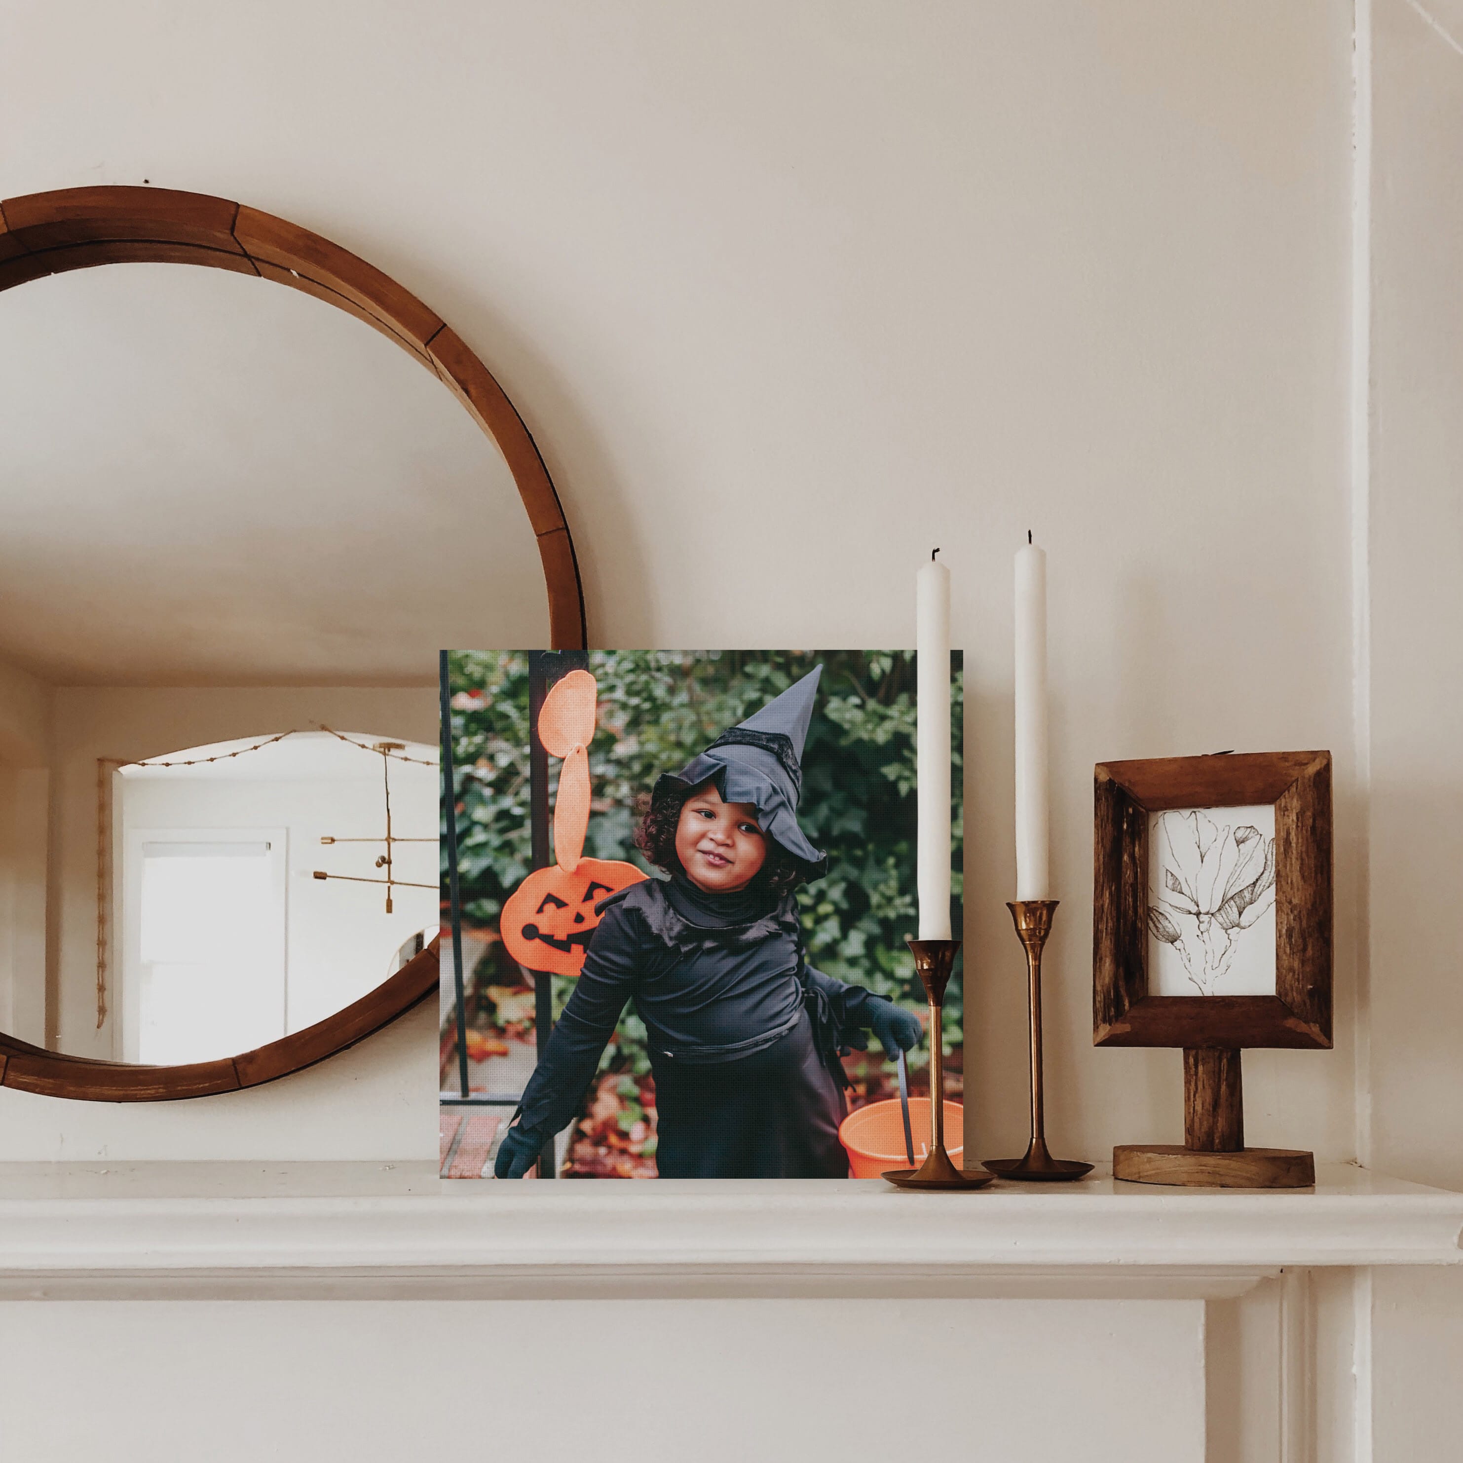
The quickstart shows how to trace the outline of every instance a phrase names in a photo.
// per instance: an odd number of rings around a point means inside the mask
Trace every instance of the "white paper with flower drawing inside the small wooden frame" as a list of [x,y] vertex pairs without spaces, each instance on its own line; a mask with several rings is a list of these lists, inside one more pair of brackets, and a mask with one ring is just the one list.
[[1148,813],[1148,993],[1276,993],[1276,811]]

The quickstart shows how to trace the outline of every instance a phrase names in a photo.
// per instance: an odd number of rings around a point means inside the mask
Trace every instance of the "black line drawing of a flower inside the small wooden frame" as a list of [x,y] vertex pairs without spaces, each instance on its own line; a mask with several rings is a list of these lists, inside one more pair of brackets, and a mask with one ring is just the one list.
[[1216,995],[1244,932],[1276,901],[1276,841],[1249,824],[1216,827],[1203,811],[1166,812],[1148,856],[1162,884],[1148,932],[1173,947],[1200,995]]

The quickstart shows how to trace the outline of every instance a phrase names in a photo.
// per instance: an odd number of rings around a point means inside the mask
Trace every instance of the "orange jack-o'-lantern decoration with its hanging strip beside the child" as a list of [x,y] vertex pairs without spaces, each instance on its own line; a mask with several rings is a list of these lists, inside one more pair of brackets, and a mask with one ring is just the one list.
[[528,970],[576,976],[600,923],[594,906],[645,875],[633,863],[585,859],[590,827],[590,742],[598,686],[587,670],[571,670],[544,696],[538,740],[563,761],[553,809],[554,862],[535,869],[503,901],[499,930],[508,952]]

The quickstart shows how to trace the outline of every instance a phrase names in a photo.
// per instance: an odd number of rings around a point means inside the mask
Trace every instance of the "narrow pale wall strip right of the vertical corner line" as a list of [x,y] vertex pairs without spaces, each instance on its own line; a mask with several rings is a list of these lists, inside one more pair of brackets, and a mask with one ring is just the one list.
[[[1364,1141],[1463,1189],[1463,4],[1374,16]],[[1380,1273],[1372,1323],[1378,1463],[1451,1456],[1463,1273]]]

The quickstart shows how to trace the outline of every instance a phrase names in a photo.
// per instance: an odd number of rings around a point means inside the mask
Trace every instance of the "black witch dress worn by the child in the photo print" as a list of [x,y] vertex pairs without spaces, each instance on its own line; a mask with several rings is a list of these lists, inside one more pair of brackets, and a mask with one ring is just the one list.
[[633,1001],[661,1178],[847,1178],[838,1049],[863,1046],[869,1002],[882,998],[808,966],[793,897],[707,894],[677,873],[600,909],[522,1124],[547,1138],[573,1118]]

